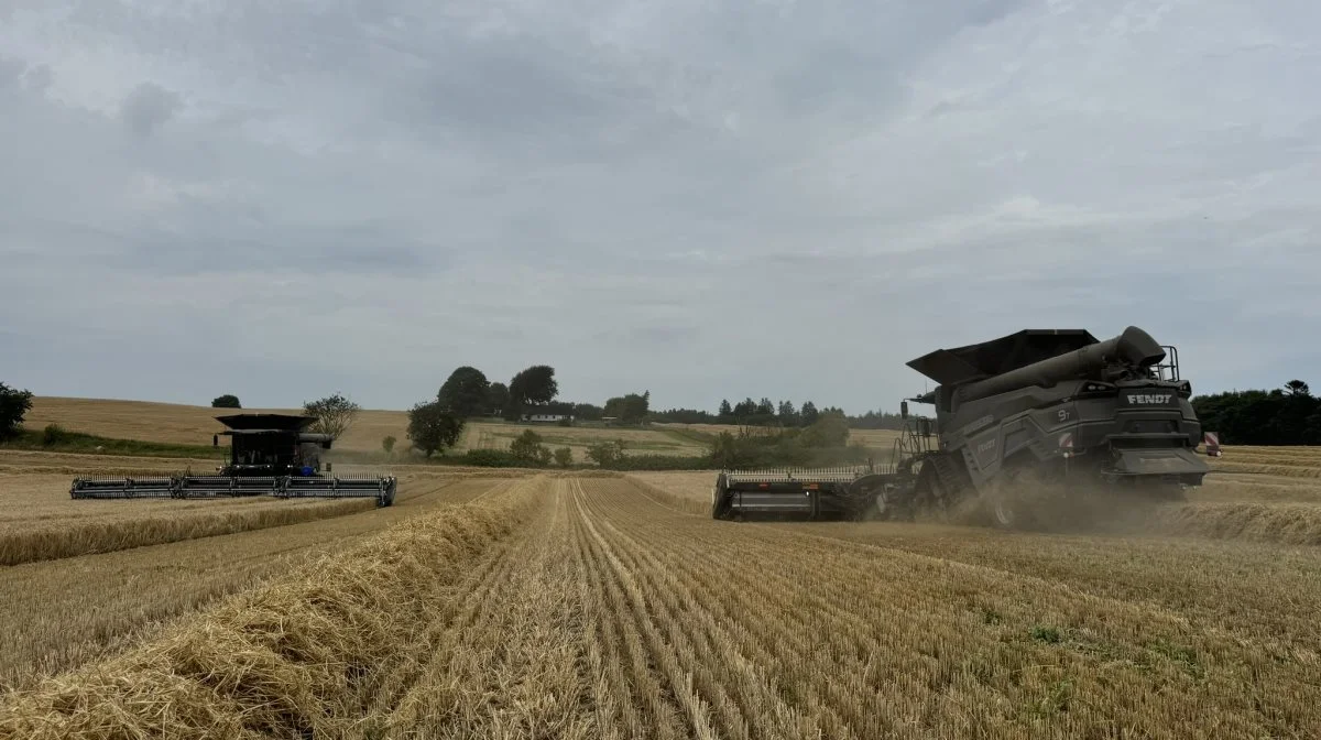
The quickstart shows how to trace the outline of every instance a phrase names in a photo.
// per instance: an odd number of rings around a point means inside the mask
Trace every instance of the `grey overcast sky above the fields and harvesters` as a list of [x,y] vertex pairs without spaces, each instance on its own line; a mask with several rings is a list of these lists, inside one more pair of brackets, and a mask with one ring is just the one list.
[[1321,386],[1316,0],[0,0],[0,381],[921,391],[1135,324]]

